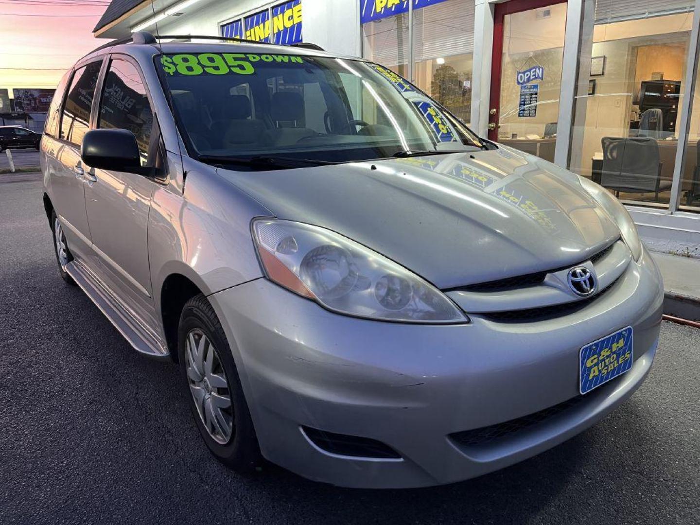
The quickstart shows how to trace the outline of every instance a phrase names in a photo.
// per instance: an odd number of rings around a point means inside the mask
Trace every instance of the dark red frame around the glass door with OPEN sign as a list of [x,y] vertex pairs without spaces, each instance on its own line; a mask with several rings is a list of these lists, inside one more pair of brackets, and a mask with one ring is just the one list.
[[[521,13],[531,9],[566,3],[567,0],[510,0],[496,3],[493,13],[493,56],[491,57],[491,100],[489,105],[489,124],[496,125],[489,130],[489,140],[498,140],[498,117],[500,116],[500,73],[503,68],[503,18],[505,15]],[[496,113],[491,115],[491,109]]]

